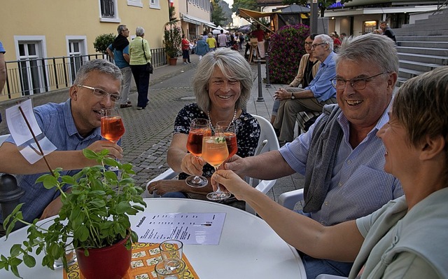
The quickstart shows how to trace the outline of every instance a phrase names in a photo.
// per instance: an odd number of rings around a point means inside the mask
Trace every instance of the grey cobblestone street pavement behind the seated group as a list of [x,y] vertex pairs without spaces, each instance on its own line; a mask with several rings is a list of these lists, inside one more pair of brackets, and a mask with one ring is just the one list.
[[[172,139],[172,125],[177,112],[194,100],[193,88],[165,87],[158,89],[158,83],[178,76],[190,69],[195,69],[199,62],[197,55],[191,55],[191,64],[183,64],[179,58],[176,66],[162,66],[154,69],[151,74],[149,99],[147,109],[137,110],[135,106],[129,109],[120,109],[125,121],[127,132],[123,136],[122,147],[125,150],[122,161],[134,165],[136,175],[134,179],[137,185],[146,186],[146,183],[168,168],[166,153]],[[279,84],[267,87],[265,83],[258,86],[258,65],[251,64],[254,73],[253,89],[251,98],[247,104],[247,111],[251,114],[267,118],[270,121],[272,105],[274,104],[274,93]],[[265,64],[261,64],[261,79],[265,78]],[[134,83],[134,81],[132,81]],[[155,87],[155,88],[154,88]],[[259,88],[261,95],[259,96]],[[38,106],[48,102],[64,102],[69,97],[68,88],[32,95],[33,105]],[[27,97],[23,97],[25,100]],[[137,99],[135,85],[131,88],[130,100]],[[0,111],[4,116],[4,110],[12,106],[18,100],[0,102]],[[6,121],[0,123],[0,135],[8,133]],[[278,196],[285,191],[292,191],[303,187],[303,177],[298,174],[277,179],[275,186],[267,193],[268,196],[277,200]]]

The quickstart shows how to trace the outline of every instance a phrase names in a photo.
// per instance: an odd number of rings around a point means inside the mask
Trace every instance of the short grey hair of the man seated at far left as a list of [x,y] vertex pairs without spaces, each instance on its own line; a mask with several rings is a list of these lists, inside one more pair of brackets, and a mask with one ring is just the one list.
[[95,59],[85,62],[85,64],[79,68],[78,73],[76,74],[76,79],[73,81],[73,86],[83,84],[90,72],[93,71],[108,74],[113,79],[121,81],[121,71],[115,64],[104,59]]

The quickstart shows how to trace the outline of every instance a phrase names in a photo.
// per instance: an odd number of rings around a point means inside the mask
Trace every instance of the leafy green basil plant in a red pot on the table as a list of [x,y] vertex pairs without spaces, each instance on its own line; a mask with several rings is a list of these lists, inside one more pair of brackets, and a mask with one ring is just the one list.
[[[141,197],[144,190],[135,186],[130,177],[134,174],[132,165],[109,158],[107,149],[99,153],[84,149],[83,154],[100,165],[83,168],[73,176],[61,176],[59,168],[36,181],[61,193],[62,208],[50,226],[36,224],[37,219],[32,224],[25,222],[20,212],[22,204],[6,217],[3,222],[6,237],[15,222],[25,223],[29,229],[27,240],[13,245],[8,257],[1,255],[0,268],[10,269],[20,277],[19,264],[23,262],[29,268],[36,265],[31,255],[34,249],[36,254],[45,252],[43,266],[53,268],[55,259],[62,258],[67,268],[66,249],[71,244],[85,278],[121,278],[127,273],[131,246],[138,240],[137,233],[130,229],[128,215],[136,215],[146,207]],[[108,170],[107,165],[117,166],[120,175]],[[62,191],[65,184],[71,185],[71,192]]]

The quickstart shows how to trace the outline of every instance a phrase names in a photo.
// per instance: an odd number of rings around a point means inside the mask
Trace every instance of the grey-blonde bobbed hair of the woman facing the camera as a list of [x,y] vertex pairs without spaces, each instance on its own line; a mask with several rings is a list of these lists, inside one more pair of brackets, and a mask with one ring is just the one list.
[[202,57],[193,77],[193,90],[200,109],[209,111],[211,108],[209,81],[216,66],[221,69],[227,79],[237,80],[241,83],[241,95],[235,108],[245,108],[253,86],[251,65],[237,51],[230,48],[218,48]]

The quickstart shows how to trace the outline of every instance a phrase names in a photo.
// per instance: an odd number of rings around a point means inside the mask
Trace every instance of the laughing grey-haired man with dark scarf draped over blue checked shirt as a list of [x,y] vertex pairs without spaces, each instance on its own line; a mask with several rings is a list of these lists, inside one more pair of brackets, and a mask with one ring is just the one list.
[[[278,151],[233,156],[224,164],[258,179],[304,175],[303,212],[324,226],[369,215],[403,194],[398,179],[384,172],[386,149],[376,135],[388,122],[397,81],[393,41],[374,34],[346,38],[336,59],[337,104],[325,106],[308,132]],[[307,278],[347,276],[352,266],[307,254],[302,259]]]

